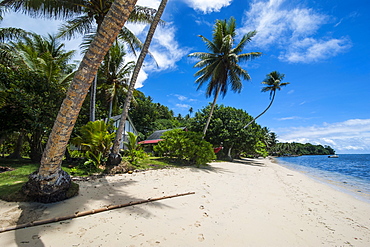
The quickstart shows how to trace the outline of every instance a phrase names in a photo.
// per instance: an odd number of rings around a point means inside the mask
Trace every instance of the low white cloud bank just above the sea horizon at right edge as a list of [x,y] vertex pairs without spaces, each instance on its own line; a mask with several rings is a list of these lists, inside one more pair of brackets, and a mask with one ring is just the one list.
[[338,153],[370,152],[370,119],[350,119],[321,126],[273,130],[280,142],[329,145]]

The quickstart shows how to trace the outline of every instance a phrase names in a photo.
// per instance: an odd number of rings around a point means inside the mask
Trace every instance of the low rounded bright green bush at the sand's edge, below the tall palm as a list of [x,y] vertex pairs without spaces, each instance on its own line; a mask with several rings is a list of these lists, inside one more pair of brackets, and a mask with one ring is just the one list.
[[199,133],[175,129],[165,132],[162,139],[164,140],[154,147],[154,151],[161,157],[196,165],[203,165],[216,159],[211,144],[203,140]]

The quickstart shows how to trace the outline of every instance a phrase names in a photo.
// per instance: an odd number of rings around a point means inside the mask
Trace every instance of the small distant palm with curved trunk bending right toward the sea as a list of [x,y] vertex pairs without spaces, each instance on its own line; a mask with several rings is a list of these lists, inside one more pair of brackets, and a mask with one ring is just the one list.
[[247,123],[247,125],[245,125],[244,128],[247,128],[251,123],[256,121],[257,118],[259,118],[260,116],[265,114],[265,112],[267,112],[267,110],[271,107],[272,103],[274,102],[276,90],[280,91],[281,87],[284,87],[284,86],[290,84],[289,82],[281,82],[284,79],[284,77],[285,77],[284,74],[280,74],[277,71],[273,71],[273,72],[271,72],[270,74],[268,74],[266,76],[266,79],[262,82],[262,84],[265,84],[265,85],[268,85],[268,86],[262,88],[261,92],[270,92],[270,100],[271,100],[270,104],[267,106],[267,108],[260,115],[253,118],[252,121]]

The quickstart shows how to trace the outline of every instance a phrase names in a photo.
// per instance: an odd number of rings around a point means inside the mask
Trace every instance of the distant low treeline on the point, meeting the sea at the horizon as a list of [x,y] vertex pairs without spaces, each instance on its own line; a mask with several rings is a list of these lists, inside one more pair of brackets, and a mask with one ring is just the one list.
[[313,145],[311,143],[281,142],[276,143],[270,150],[271,155],[289,156],[289,155],[331,155],[335,151],[330,146]]

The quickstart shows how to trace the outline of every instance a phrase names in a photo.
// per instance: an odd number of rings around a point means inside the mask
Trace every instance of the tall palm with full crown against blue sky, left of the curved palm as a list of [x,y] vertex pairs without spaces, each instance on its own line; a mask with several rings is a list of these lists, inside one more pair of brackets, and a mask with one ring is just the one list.
[[260,52],[241,53],[244,46],[256,35],[256,31],[245,34],[241,41],[234,46],[235,29],[236,24],[233,17],[228,21],[217,20],[213,27],[212,41],[200,35],[210,53],[195,52],[189,54],[190,57],[200,59],[194,65],[195,68],[201,68],[195,73],[195,76],[199,76],[195,81],[198,83],[198,89],[208,82],[206,96],[214,95],[211,110],[203,129],[203,137],[206,135],[219,94],[225,97],[229,85],[232,91],[240,93],[243,86],[241,79],[250,80],[248,72],[240,67],[238,63],[261,56]]

